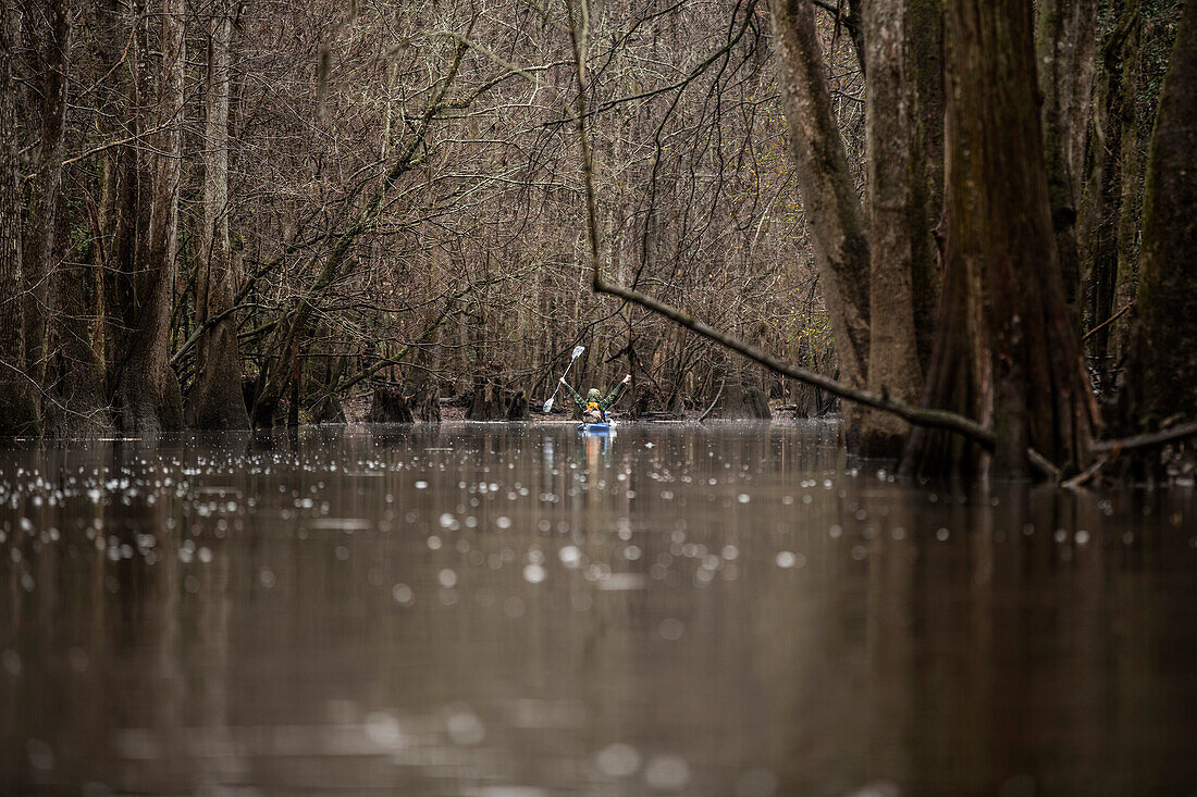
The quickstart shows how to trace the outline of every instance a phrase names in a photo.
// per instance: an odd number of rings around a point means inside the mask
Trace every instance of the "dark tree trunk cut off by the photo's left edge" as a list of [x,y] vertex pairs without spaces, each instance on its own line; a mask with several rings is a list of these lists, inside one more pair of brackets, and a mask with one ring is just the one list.
[[17,12],[6,1],[0,4],[0,438],[37,427],[37,406],[25,375],[16,39]]

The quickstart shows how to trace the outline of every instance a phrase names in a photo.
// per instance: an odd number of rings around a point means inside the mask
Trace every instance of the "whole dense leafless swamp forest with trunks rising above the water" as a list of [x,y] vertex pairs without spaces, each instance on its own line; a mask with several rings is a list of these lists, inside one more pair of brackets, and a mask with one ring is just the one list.
[[584,343],[1086,471],[1197,420],[1192,5],[6,2],[0,433],[522,416]]

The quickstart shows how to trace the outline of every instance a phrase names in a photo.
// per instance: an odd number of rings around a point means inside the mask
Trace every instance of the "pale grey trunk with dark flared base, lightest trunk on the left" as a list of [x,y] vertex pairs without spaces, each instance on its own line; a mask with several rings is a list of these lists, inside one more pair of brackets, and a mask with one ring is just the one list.
[[229,89],[233,7],[218,0],[208,36],[208,80],[203,150],[203,233],[195,285],[198,324],[195,385],[188,396],[188,421],[196,428],[249,428],[241,397],[241,351],[232,303],[236,292],[229,241]]

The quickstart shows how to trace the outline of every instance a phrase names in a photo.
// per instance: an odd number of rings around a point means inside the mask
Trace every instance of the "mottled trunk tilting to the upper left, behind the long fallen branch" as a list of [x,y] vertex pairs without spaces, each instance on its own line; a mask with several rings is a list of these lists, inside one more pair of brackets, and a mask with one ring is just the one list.
[[[869,365],[869,242],[844,141],[832,115],[814,11],[809,0],[774,0],[770,11],[790,152],[814,239],[840,377],[862,388]],[[852,445],[857,418],[853,408],[845,408]]]

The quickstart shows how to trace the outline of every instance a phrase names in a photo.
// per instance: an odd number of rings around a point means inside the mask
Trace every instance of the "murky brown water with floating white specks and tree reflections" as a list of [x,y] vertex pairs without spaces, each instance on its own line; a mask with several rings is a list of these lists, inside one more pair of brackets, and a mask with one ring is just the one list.
[[836,437],[0,452],[0,793],[1193,793],[1192,488]]

